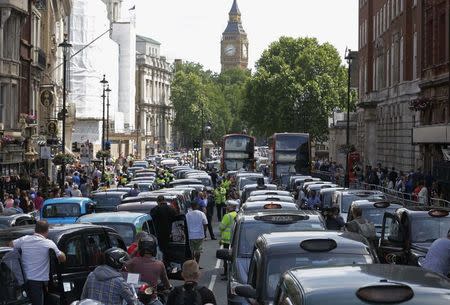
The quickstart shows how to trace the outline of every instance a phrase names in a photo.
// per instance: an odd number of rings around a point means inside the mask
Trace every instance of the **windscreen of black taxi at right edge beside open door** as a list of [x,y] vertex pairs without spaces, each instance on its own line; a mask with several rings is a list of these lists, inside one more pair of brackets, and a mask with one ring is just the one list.
[[411,242],[432,243],[446,237],[450,228],[450,217],[421,217],[411,221]]

